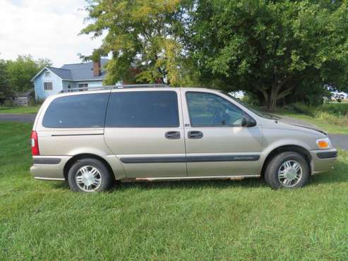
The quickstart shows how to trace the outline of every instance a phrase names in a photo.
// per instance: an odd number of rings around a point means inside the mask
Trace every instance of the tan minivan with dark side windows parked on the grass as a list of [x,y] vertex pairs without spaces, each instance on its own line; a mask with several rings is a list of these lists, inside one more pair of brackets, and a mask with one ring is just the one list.
[[106,88],[48,97],[32,128],[32,176],[74,191],[116,181],[265,178],[299,188],[332,169],[322,130],[286,123],[218,90]]

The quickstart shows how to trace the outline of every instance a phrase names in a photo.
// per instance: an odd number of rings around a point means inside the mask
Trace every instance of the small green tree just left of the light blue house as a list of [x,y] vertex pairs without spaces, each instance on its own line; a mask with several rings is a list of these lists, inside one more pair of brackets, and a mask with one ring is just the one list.
[[31,55],[18,56],[15,61],[8,60],[6,62],[6,73],[8,77],[8,85],[11,91],[23,92],[32,88],[30,80],[44,66],[51,66],[49,59],[35,60]]

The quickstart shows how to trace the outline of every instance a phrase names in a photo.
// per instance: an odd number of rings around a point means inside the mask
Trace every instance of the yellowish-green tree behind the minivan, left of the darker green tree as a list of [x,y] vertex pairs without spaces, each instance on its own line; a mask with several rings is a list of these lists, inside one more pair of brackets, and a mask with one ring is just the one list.
[[195,74],[179,40],[183,6],[181,0],[90,0],[85,9],[92,23],[81,33],[106,35],[100,49],[85,58],[112,54],[106,84],[190,84],[188,75]]

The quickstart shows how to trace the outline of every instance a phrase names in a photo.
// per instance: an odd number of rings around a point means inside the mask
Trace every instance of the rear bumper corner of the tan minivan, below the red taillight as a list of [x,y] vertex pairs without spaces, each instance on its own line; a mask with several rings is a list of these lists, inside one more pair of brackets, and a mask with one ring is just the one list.
[[36,179],[64,181],[64,166],[71,156],[34,156],[30,173]]

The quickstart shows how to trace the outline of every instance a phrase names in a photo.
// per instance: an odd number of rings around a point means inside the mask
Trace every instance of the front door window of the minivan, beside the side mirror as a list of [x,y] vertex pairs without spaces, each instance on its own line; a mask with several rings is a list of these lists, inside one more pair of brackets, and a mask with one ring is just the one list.
[[244,112],[226,99],[205,92],[186,92],[192,126],[241,126]]

